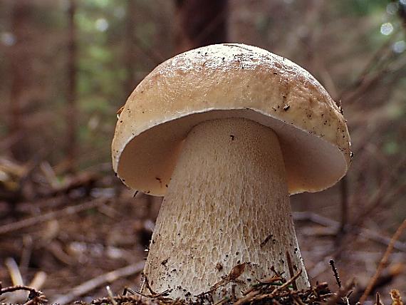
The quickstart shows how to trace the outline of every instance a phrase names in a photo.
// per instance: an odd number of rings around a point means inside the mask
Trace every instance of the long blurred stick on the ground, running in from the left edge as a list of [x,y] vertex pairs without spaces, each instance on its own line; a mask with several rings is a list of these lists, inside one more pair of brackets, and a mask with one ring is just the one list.
[[31,227],[34,224],[39,224],[41,222],[46,222],[51,219],[65,217],[67,215],[76,214],[78,212],[92,209],[93,207],[97,207],[98,205],[103,205],[108,202],[108,199],[105,198],[98,198],[96,200],[92,200],[90,202],[85,202],[80,205],[73,205],[71,207],[66,207],[63,210],[48,212],[46,214],[42,214],[38,217],[31,217],[27,219],[20,220],[19,222],[11,222],[10,224],[4,224],[0,227],[0,235],[6,234],[9,232],[13,232],[19,229],[24,229],[26,227]]

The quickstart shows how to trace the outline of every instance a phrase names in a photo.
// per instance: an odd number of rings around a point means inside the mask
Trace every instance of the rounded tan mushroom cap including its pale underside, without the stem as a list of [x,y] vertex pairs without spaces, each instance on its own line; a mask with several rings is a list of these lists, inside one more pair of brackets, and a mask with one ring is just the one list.
[[286,58],[236,43],[181,53],[140,82],[118,118],[113,169],[128,187],[165,195],[189,130],[232,117],[276,132],[290,194],[324,190],[348,170],[350,135],[323,86]]

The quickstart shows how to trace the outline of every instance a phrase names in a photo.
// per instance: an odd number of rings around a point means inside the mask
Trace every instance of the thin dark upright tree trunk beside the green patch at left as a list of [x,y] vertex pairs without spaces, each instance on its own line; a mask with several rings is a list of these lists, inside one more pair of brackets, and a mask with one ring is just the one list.
[[68,161],[68,171],[72,172],[75,168],[76,157],[76,27],[75,27],[75,11],[76,0],[69,1],[68,9],[68,88],[67,102],[68,109],[66,112],[66,153]]

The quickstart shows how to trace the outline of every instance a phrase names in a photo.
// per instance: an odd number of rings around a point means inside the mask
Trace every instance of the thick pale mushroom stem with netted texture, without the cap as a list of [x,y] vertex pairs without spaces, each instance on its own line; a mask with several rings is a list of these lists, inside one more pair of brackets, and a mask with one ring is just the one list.
[[[270,128],[244,118],[209,120],[187,135],[152,235],[145,276],[154,291],[173,298],[209,291],[237,264],[236,294],[273,275],[309,286],[298,249],[279,140]],[[225,290],[224,290],[225,289]]]

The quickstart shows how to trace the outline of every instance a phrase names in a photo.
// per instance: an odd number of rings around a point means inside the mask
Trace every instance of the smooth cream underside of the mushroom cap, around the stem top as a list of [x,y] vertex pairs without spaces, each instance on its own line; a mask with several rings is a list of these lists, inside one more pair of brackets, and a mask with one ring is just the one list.
[[[286,166],[288,192],[318,192],[334,185],[348,168],[345,153],[322,136],[285,123],[259,110],[205,110],[180,115],[133,135],[123,148],[118,176],[125,185],[150,195],[165,195],[184,138],[195,125],[219,118],[246,118],[278,134]],[[142,175],[135,175],[142,172]]]

